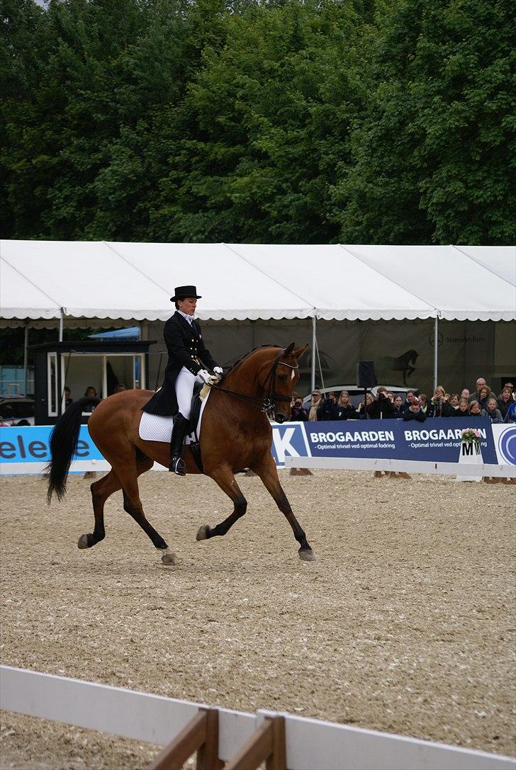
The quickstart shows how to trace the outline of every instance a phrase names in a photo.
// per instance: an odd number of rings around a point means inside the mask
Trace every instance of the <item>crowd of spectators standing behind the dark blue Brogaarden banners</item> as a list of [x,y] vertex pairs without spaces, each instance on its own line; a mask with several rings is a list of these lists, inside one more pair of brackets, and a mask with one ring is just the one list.
[[438,385],[429,399],[425,393],[407,390],[405,398],[390,393],[387,388],[377,388],[377,396],[367,392],[363,401],[354,407],[350,394],[343,390],[340,395],[330,391],[326,397],[320,390],[313,390],[310,404],[303,407],[303,398],[294,393],[290,407],[290,419],[310,420],[417,420],[424,422],[431,417],[488,417],[491,423],[516,423],[516,393],[514,383],[504,383],[498,395],[491,390],[483,377],[475,383],[475,390],[467,388],[461,393],[447,393]]

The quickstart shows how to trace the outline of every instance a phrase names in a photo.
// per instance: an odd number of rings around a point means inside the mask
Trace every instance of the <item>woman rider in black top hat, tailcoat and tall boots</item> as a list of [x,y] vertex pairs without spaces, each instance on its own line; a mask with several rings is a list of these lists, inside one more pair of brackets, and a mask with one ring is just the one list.
[[169,353],[165,382],[143,407],[143,411],[150,414],[174,415],[169,470],[178,476],[186,475],[183,446],[188,433],[194,383],[213,385],[216,378],[208,369],[222,374],[222,367],[204,345],[199,322],[193,317],[200,299],[195,286],[177,286],[170,298],[170,302],[176,303],[176,313],[166,321],[163,330]]

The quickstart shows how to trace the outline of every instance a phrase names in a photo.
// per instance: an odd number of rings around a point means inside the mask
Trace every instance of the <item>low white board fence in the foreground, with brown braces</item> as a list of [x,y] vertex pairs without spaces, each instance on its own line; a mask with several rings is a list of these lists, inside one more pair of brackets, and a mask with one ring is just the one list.
[[[7,711],[168,744],[203,705],[0,666],[0,705]],[[219,759],[230,762],[270,711],[228,708],[219,715]],[[516,770],[511,757],[282,714],[289,770]]]

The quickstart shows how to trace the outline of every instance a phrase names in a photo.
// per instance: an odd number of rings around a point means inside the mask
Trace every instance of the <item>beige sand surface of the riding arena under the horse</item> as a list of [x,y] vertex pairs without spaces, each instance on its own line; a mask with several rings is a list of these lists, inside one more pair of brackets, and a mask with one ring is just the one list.
[[[89,480],[45,504],[0,480],[2,663],[209,705],[271,708],[514,755],[514,500],[504,484],[316,471],[280,478],[317,560],[257,477],[246,516],[205,477],[140,479],[183,557],[163,567],[117,493],[106,540]],[[156,747],[2,712],[2,768],[145,767]]]

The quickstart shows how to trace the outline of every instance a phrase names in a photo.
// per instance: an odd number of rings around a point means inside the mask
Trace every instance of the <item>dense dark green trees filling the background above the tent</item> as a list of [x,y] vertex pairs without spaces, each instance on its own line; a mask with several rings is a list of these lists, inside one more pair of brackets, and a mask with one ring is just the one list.
[[0,0],[1,235],[513,243],[507,0]]

